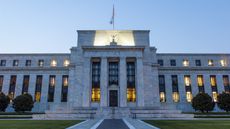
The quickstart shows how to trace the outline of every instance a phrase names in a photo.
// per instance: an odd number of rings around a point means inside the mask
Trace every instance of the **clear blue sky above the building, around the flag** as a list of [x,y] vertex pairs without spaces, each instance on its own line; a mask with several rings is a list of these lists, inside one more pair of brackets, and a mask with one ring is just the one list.
[[68,53],[76,30],[151,30],[161,53],[230,53],[230,0],[0,0],[0,53]]

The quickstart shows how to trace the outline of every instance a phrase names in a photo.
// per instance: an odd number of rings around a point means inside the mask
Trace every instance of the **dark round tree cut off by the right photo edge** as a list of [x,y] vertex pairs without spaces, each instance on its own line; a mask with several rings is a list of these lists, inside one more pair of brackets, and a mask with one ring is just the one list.
[[225,110],[226,112],[230,111],[230,93],[222,93],[217,97],[217,105],[220,109]]

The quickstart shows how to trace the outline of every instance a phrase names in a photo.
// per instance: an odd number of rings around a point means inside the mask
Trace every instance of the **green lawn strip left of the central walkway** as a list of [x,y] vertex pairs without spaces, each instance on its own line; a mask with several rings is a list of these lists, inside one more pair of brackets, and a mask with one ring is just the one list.
[[77,120],[1,120],[1,129],[65,129]]

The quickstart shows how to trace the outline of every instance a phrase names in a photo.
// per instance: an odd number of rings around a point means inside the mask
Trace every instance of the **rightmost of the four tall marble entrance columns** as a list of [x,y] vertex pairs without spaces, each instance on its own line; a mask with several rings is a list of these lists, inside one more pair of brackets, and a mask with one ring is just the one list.
[[144,74],[143,74],[143,59],[137,58],[136,60],[137,70],[136,70],[136,82],[137,82],[137,106],[144,106]]

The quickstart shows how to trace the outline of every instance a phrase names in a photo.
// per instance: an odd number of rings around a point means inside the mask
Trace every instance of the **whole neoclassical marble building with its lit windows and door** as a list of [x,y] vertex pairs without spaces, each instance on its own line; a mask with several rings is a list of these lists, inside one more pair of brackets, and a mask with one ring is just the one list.
[[149,32],[79,30],[70,53],[0,54],[0,91],[31,94],[34,112],[75,117],[176,114],[193,111],[199,92],[214,101],[229,92],[230,54],[157,53]]

